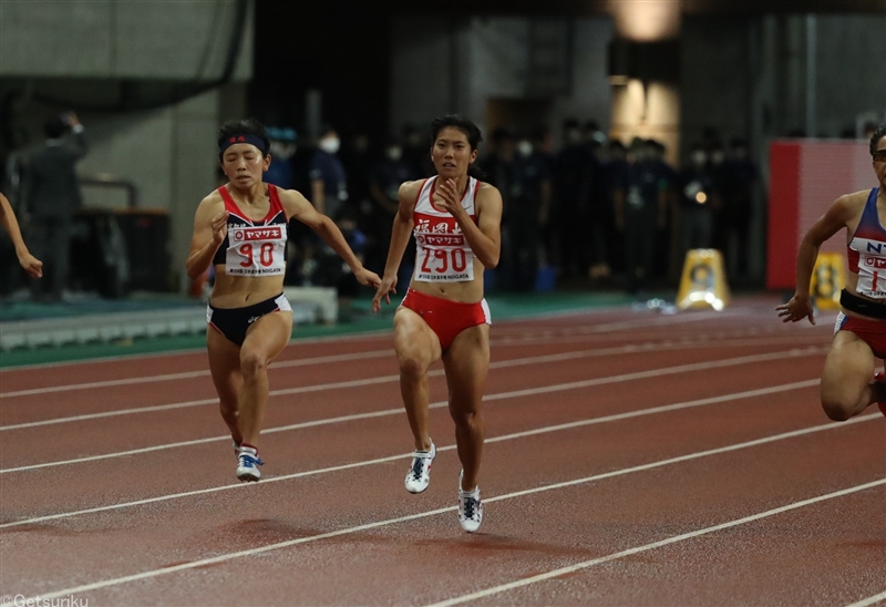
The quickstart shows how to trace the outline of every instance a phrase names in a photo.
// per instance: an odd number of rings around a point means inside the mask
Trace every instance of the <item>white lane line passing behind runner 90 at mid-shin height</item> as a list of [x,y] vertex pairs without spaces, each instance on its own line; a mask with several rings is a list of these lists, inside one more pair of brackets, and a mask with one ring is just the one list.
[[[758,342],[752,342],[758,344]],[[713,341],[713,342],[693,342],[693,341],[679,341],[672,343],[639,343],[639,344],[627,344],[627,346],[618,346],[618,347],[610,347],[610,348],[598,348],[591,350],[579,350],[574,352],[564,352],[559,354],[547,354],[540,357],[528,357],[528,358],[518,358],[518,359],[511,359],[511,360],[502,360],[502,361],[494,361],[490,363],[490,369],[504,369],[508,367],[517,367],[524,364],[539,364],[546,362],[560,362],[565,360],[575,360],[580,358],[593,358],[593,357],[607,357],[611,354],[625,354],[625,353],[637,353],[637,352],[656,352],[660,350],[686,350],[686,349],[700,349],[700,348],[732,348],[744,346],[745,342],[735,343],[734,341]],[[787,352],[796,351],[796,348],[789,350]],[[824,353],[826,352],[826,348],[820,347],[817,350],[815,347],[806,348],[810,351],[808,356],[814,356],[816,353]],[[806,356],[806,354],[804,354]],[[443,371],[441,369],[434,369],[429,372],[431,377],[442,375]],[[268,395],[269,397],[281,397],[281,395],[289,395],[289,394],[303,394],[308,392],[319,392],[324,390],[338,390],[338,389],[346,389],[346,388],[361,388],[363,385],[372,385],[378,383],[387,383],[399,381],[400,375],[383,375],[380,378],[371,378],[371,379],[363,379],[363,380],[351,380],[344,382],[332,382],[332,383],[320,383],[315,385],[301,385],[298,388],[287,388],[281,390],[271,390]],[[81,422],[85,420],[96,420],[102,418],[112,418],[117,415],[131,415],[135,413],[154,413],[157,411],[168,411],[173,409],[185,409],[188,407],[200,407],[206,404],[216,404],[218,399],[203,399],[197,401],[186,401],[186,402],[176,402],[171,404],[156,404],[150,407],[138,407],[133,409],[119,409],[114,411],[103,411],[99,413],[85,413],[82,415],[70,415],[66,418],[53,418],[49,420],[41,420],[37,422],[25,422],[25,423],[18,423],[18,424],[9,424],[9,425],[0,425],[0,432],[7,432],[10,430],[22,430],[27,428],[40,428],[43,425],[53,425],[58,423],[71,423],[71,422]]]

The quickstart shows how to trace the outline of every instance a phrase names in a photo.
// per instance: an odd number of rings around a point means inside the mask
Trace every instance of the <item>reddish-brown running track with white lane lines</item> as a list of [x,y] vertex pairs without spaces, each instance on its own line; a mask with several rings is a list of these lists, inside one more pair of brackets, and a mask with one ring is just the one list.
[[204,353],[0,372],[2,600],[886,600],[886,420],[824,416],[828,319],[775,304],[496,323],[474,535],[439,368],[431,486],[403,488],[389,335],[286,349],[250,485]]

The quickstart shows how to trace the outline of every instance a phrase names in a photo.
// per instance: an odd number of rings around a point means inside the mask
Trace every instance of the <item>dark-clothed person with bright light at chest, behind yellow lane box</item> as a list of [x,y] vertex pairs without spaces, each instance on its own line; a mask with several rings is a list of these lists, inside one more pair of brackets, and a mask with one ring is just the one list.
[[680,173],[678,187],[682,259],[689,250],[713,246],[714,213],[720,202],[703,145],[692,146],[689,166]]

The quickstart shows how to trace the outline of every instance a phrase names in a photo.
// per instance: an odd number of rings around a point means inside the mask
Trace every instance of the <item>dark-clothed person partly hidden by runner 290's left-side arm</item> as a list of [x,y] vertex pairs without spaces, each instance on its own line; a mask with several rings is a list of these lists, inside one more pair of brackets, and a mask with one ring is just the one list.
[[[399,137],[391,137],[384,146],[384,156],[380,158],[369,174],[369,193],[372,197],[370,215],[370,244],[367,251],[367,265],[382,267],[388,257],[388,243],[391,241],[391,226],[400,205],[398,192],[400,184],[419,178],[418,172],[403,156],[403,145]],[[403,269],[411,270],[415,263],[415,254],[406,248],[403,257]]]

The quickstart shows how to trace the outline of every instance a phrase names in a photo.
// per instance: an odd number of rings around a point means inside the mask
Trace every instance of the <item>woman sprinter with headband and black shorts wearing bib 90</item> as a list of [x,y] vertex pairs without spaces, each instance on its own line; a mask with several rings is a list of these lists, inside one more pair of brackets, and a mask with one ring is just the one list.
[[336,224],[305,196],[262,183],[271,162],[269,147],[265,126],[255,120],[222,126],[218,157],[229,181],[197,207],[186,264],[192,279],[215,265],[206,347],[240,481],[261,476],[257,445],[268,403],[268,363],[292,333],[292,309],[284,295],[289,219],[313,229],[361,285],[381,284],[377,274],[363,268]]

